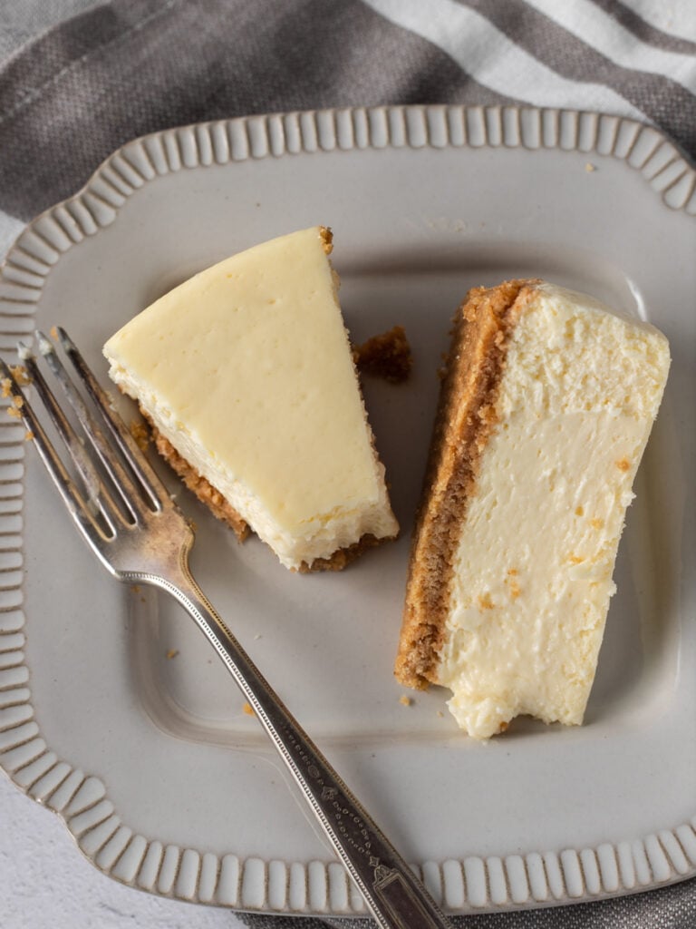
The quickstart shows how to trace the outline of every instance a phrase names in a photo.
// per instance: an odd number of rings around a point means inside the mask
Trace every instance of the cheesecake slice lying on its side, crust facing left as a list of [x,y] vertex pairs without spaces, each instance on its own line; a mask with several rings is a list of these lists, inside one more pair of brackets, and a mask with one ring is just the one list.
[[582,722],[668,368],[651,325],[545,281],[459,308],[395,671],[470,736]]

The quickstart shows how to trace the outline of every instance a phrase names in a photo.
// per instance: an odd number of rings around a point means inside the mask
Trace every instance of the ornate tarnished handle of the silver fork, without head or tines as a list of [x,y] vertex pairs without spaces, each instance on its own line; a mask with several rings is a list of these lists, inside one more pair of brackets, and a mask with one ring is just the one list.
[[173,595],[213,645],[249,700],[307,803],[384,929],[447,929],[444,915],[365,808],[294,719],[227,629],[187,565],[175,582],[151,575]]

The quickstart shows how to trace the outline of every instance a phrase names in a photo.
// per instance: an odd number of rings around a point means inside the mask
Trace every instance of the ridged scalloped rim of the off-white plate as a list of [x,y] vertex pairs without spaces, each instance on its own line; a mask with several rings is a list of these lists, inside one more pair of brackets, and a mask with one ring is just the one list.
[[[696,216],[696,170],[677,146],[649,124],[606,113],[435,104],[276,112],[177,126],[126,142],[81,190],[19,233],[0,265],[0,340],[31,334],[34,307],[60,256],[110,226],[123,203],[156,177],[299,153],[404,147],[557,149],[612,156],[638,171],[665,207]],[[587,170],[592,169],[588,162]],[[57,812],[84,856],[121,883],[238,910],[367,915],[337,861],[274,862],[269,867],[271,862],[257,857],[216,856],[147,838],[124,824],[101,779],[58,758],[46,745],[23,651],[23,453],[23,427],[3,417],[0,533],[6,537],[3,554],[13,582],[0,589],[0,768],[20,790]],[[696,816],[632,842],[426,861],[416,869],[450,913],[622,896],[696,875]],[[162,870],[172,874],[166,891],[158,880]],[[324,907],[313,905],[316,900],[326,901]]]

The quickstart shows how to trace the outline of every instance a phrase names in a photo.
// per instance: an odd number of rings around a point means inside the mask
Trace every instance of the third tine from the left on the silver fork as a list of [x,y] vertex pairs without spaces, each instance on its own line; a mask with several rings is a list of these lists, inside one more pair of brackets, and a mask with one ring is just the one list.
[[[83,425],[87,438],[89,438],[90,442],[92,443],[92,447],[97,452],[99,461],[106,468],[111,481],[113,482],[113,486],[119,492],[123,504],[126,506],[128,512],[133,517],[135,522],[139,522],[143,517],[145,517],[148,510],[148,505],[142,496],[143,490],[148,492],[148,501],[152,504],[152,506],[155,509],[160,510],[161,504],[159,499],[153,498],[149,493],[148,488],[143,488],[142,485],[136,484],[133,477],[131,477],[131,475],[123,467],[109,440],[104,436],[104,433],[98,425],[97,420],[92,415],[92,412],[90,412],[88,409],[84,399],[78,393],[76,387],[72,383],[70,375],[66,371],[62,361],[58,358],[58,354],[53,346],[53,343],[46,338],[45,334],[38,331],[36,332],[36,339],[38,342],[39,351],[45,358],[45,361],[51,371],[56,376],[58,383],[63,388],[68,402],[71,404],[71,407],[76,413],[77,418]],[[137,477],[139,478],[139,475]]]

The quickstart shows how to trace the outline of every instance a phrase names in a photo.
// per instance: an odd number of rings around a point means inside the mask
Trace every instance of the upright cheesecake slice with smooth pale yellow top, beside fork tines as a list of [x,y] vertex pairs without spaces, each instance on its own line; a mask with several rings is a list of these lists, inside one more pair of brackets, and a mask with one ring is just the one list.
[[321,227],[256,245],[162,296],[104,347],[161,454],[290,569],[342,568],[398,531],[330,251]]

